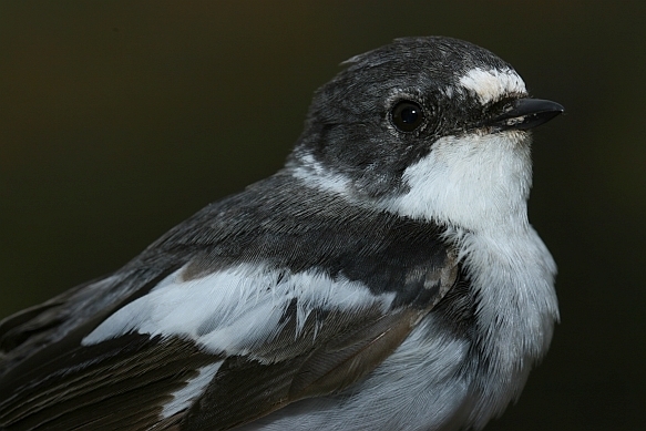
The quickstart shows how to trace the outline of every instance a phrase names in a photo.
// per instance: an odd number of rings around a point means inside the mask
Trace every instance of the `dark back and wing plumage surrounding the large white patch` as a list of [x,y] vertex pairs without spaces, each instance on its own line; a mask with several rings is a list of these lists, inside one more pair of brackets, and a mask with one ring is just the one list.
[[[280,182],[205,208],[109,278],[110,286],[89,284],[3,322],[1,429],[226,430],[341,391],[378,367],[457,283],[453,253],[438,226],[349,208],[316,191],[281,193]],[[359,281],[375,296],[394,299],[386,308],[311,308],[296,329],[294,298],[277,306],[279,330],[237,355],[207,351],[176,335],[124,333],[81,343],[177,267],[198,278],[242,261],[290,274],[316,267],[330,279]],[[100,306],[79,310],[86,304],[79,298],[93,289]],[[203,376],[205,370],[211,373]],[[178,394],[185,402],[173,404]]]

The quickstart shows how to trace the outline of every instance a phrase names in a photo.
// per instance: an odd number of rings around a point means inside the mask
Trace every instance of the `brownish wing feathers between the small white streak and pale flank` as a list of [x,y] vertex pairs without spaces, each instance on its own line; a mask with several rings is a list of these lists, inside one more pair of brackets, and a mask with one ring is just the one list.
[[227,358],[182,430],[229,430],[291,402],[340,392],[377,368],[430,309],[312,312],[296,340],[288,325],[263,352],[287,350],[290,357],[263,361],[257,351],[255,359]]

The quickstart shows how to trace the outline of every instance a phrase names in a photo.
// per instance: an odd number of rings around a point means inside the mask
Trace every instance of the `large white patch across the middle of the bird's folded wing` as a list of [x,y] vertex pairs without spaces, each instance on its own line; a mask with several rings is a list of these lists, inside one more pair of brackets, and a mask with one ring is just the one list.
[[316,270],[293,274],[243,264],[185,280],[182,268],[110,316],[83,345],[139,332],[189,338],[213,353],[250,355],[280,331],[294,298],[298,330],[314,309],[361,310],[377,305],[386,311],[394,294],[377,296],[361,283],[331,279]]

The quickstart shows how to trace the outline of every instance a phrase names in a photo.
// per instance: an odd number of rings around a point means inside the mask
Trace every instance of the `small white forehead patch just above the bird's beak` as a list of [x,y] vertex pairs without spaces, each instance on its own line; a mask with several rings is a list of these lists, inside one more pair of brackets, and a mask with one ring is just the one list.
[[474,92],[482,104],[499,100],[510,93],[526,93],[527,91],[521,76],[511,69],[471,69],[460,79],[460,85]]

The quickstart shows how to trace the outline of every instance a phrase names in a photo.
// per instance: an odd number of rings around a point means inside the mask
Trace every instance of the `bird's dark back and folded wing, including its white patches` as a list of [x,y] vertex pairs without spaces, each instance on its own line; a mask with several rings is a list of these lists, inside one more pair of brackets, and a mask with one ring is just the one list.
[[0,423],[227,429],[338,392],[457,283],[441,234],[284,175],[257,183],[6,320]]

